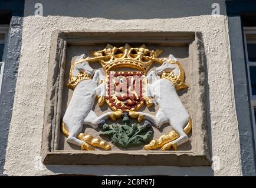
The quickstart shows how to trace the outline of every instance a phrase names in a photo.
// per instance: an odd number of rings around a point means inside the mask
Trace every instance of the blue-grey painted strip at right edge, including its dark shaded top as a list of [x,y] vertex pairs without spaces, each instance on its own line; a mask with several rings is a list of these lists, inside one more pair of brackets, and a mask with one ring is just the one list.
[[[247,26],[245,16],[254,18],[256,1],[226,1],[229,38],[231,45],[232,74],[234,80],[235,105],[241,148],[242,174],[255,176],[255,143],[252,127],[250,95],[248,91],[247,67],[245,65],[242,26]],[[254,23],[253,23],[254,22]],[[251,25],[255,24],[251,20]]]

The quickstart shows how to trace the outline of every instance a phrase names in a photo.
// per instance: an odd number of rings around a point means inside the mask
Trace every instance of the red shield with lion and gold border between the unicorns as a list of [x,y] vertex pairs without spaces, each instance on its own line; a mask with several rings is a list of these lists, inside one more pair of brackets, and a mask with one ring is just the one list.
[[145,73],[107,72],[106,102],[112,110],[129,112],[139,109],[145,99]]

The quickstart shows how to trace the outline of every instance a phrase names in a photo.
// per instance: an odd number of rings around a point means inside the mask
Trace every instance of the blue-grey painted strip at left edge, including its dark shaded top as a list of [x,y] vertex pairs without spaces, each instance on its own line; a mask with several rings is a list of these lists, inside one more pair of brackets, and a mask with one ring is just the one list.
[[24,0],[0,0],[0,24],[9,24],[4,76],[0,95],[0,175],[3,174],[9,124],[21,53]]

